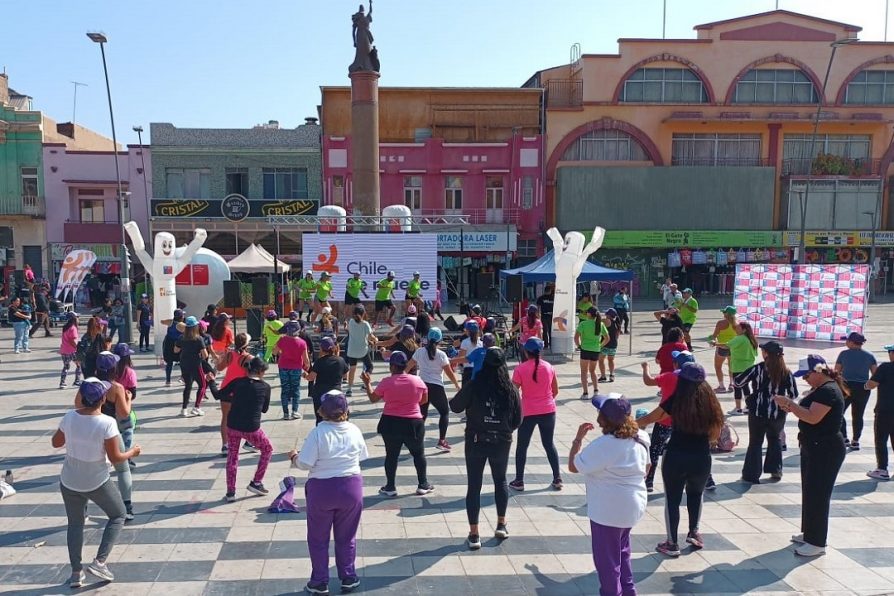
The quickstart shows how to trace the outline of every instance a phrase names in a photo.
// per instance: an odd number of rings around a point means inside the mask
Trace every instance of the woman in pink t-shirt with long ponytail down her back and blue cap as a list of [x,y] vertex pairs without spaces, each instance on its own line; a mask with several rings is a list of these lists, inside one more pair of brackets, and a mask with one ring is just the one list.
[[512,384],[519,388],[522,398],[522,424],[518,428],[518,445],[515,448],[515,480],[510,488],[525,490],[525,462],[528,459],[528,445],[534,428],[540,428],[540,442],[546,450],[546,459],[553,470],[554,490],[562,490],[559,474],[559,452],[553,442],[556,432],[556,396],[559,394],[559,380],[549,362],[540,359],[543,341],[531,337],[524,346],[527,359],[515,367]]

